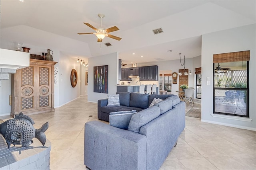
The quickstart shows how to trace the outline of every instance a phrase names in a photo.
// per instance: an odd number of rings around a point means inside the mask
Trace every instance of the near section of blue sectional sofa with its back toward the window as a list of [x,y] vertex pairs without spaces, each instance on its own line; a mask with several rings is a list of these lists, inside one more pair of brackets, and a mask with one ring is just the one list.
[[157,170],[184,127],[185,103],[175,95],[134,113],[128,130],[87,122],[84,164],[91,170]]

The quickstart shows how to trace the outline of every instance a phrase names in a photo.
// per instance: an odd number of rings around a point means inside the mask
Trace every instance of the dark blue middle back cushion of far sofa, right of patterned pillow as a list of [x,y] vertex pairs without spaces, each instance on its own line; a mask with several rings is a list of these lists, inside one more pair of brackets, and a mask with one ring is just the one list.
[[139,107],[142,109],[148,108],[148,96],[149,94],[131,93],[130,106]]

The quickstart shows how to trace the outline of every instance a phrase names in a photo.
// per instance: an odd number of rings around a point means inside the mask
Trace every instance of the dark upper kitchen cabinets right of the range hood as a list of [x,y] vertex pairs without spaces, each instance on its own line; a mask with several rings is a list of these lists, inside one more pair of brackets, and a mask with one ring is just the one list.
[[140,81],[158,81],[158,66],[140,67]]

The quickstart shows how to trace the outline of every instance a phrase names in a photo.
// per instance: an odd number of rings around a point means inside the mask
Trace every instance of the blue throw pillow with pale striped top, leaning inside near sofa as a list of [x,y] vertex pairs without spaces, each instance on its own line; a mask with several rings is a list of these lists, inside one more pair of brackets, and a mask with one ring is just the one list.
[[136,110],[111,112],[109,113],[109,125],[127,130],[132,115],[135,113],[137,113]]

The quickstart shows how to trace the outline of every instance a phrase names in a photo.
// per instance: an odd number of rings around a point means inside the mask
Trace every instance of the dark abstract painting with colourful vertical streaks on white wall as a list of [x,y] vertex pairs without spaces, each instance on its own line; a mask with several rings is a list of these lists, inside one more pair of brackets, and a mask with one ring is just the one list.
[[108,65],[93,67],[93,92],[108,93]]

